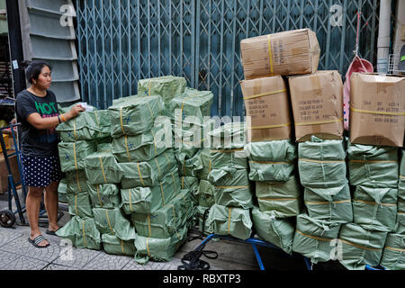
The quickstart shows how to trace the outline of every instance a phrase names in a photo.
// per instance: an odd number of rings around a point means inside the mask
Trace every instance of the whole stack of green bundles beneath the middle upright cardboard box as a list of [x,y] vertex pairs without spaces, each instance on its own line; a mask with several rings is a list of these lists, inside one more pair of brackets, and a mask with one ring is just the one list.
[[[332,252],[339,229],[353,220],[345,142],[312,136],[299,144],[298,157],[307,211],[297,218],[293,251],[310,257],[312,263],[335,260]],[[310,249],[310,242],[317,245]]]

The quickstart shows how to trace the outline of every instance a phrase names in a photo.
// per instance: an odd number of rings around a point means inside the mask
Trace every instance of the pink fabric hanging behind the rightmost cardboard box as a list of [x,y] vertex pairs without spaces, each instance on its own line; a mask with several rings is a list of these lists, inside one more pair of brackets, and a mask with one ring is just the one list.
[[353,62],[347,69],[346,81],[343,85],[343,119],[344,128],[349,130],[349,115],[350,115],[350,77],[354,72],[359,73],[373,73],[374,67],[369,61],[362,59],[356,55]]

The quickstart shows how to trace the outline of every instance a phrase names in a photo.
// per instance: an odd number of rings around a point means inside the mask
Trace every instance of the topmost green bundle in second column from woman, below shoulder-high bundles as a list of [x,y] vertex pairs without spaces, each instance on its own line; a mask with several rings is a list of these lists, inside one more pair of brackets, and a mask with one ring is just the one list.
[[85,175],[90,184],[119,184],[123,171],[111,151],[85,157]]

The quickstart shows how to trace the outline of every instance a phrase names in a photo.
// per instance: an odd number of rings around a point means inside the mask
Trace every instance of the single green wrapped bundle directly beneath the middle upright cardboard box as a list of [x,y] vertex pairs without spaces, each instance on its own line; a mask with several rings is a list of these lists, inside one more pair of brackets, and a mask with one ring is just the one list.
[[301,184],[311,188],[338,187],[347,184],[346,152],[343,140],[311,141],[298,146]]

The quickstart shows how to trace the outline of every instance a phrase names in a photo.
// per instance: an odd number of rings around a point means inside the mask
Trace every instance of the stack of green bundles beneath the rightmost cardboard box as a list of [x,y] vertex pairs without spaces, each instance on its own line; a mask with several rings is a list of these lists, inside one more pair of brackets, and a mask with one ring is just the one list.
[[[349,143],[347,156],[349,181],[354,188],[353,223],[342,225],[340,230],[343,255],[339,261],[347,269],[363,270],[366,265],[378,266],[384,252],[385,265],[401,268],[403,259],[399,260],[398,249],[403,249],[403,238],[395,230],[399,150]],[[388,233],[392,233],[390,238]]]

